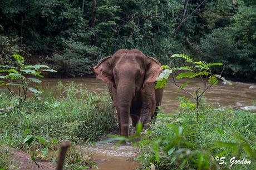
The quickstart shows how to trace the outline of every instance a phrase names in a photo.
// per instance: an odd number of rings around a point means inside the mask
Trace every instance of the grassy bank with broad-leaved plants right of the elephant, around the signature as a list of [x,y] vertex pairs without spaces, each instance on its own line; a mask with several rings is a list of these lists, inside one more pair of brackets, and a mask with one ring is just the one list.
[[[193,104],[181,106],[175,115],[159,114],[142,136],[140,169],[255,169],[255,114],[207,106],[196,122]],[[232,164],[233,157],[251,162]]]

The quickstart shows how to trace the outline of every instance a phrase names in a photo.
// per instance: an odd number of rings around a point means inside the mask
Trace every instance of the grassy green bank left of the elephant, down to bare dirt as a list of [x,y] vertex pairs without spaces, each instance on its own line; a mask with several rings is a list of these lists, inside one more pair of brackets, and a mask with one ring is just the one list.
[[[55,94],[45,92],[43,95],[41,100],[29,98],[18,103],[17,98],[1,94],[0,108],[6,110],[0,112],[0,144],[29,152],[36,158],[56,161],[62,140],[92,142],[117,131],[114,109],[107,94],[96,95],[72,83],[59,83]],[[31,143],[30,138],[33,138]],[[52,157],[47,157],[48,151]],[[90,153],[79,153],[74,144],[66,163],[68,169],[73,169],[90,161]]]

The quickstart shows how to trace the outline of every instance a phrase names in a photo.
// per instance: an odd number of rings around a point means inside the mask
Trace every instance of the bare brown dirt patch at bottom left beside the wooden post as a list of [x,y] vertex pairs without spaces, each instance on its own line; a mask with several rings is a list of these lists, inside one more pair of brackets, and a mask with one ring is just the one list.
[[56,168],[56,164],[51,163],[49,161],[38,161],[39,167],[35,164],[35,162],[31,161],[30,155],[21,151],[16,151],[16,149],[8,148],[11,153],[10,159],[14,160],[18,166],[19,170],[54,170]]

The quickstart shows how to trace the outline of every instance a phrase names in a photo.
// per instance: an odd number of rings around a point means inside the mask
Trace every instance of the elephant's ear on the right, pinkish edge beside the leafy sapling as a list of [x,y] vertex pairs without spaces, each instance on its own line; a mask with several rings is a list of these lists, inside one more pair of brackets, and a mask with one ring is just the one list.
[[158,77],[162,71],[161,64],[155,58],[147,57],[147,71],[144,83],[155,82],[156,77]]

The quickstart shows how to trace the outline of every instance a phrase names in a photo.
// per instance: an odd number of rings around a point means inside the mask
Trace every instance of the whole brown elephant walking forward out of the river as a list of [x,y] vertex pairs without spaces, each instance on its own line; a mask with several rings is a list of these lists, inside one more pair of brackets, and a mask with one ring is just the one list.
[[132,126],[145,126],[158,112],[163,89],[155,89],[156,77],[163,71],[161,64],[138,49],[119,49],[93,67],[96,77],[108,83],[119,119],[121,136],[129,136]]

